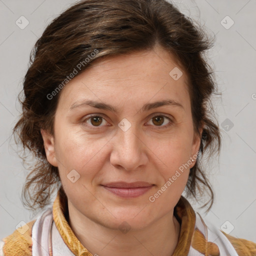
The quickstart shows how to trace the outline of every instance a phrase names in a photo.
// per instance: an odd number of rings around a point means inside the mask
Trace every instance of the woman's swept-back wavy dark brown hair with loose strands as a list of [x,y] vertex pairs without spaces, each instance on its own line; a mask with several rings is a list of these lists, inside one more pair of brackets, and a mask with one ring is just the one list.
[[23,149],[29,149],[36,159],[23,186],[24,205],[41,208],[49,202],[52,191],[60,188],[63,192],[58,169],[47,161],[40,134],[40,128],[53,134],[60,94],[56,89],[64,86],[63,81],[67,82],[74,68],[80,72],[95,59],[150,50],[155,45],[174,54],[189,77],[194,131],[199,134],[202,123],[204,128],[199,156],[189,172],[186,195],[197,200],[197,191],[200,197],[207,191],[210,199],[202,207],[210,202],[210,209],[214,194],[200,165],[205,149],[208,157],[219,154],[220,149],[219,128],[212,120],[210,103],[216,83],[204,54],[212,42],[200,26],[165,0],[83,0],[56,17],[36,41],[23,80],[24,97],[19,98],[21,117],[13,129]]

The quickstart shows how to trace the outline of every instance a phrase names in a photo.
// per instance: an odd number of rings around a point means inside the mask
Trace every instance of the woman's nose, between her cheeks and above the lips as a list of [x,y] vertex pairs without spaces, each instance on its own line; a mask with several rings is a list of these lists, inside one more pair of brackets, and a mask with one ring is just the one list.
[[125,170],[135,170],[141,168],[148,161],[146,154],[146,142],[135,125],[131,125],[124,131],[118,128],[114,138],[112,138],[112,151],[110,163],[116,168]]

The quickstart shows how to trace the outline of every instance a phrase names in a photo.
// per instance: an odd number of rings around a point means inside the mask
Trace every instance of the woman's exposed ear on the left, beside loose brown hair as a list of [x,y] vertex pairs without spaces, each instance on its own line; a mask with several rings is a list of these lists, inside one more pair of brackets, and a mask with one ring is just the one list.
[[47,160],[51,165],[57,167],[53,135],[51,135],[48,131],[43,129],[40,129],[40,131],[43,139],[43,145]]

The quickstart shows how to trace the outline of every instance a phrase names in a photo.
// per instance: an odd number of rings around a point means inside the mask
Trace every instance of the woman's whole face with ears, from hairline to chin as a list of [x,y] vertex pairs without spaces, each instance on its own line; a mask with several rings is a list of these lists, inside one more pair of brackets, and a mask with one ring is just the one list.
[[155,48],[94,62],[61,90],[54,118],[54,136],[41,132],[68,207],[111,228],[173,213],[200,144],[173,56]]

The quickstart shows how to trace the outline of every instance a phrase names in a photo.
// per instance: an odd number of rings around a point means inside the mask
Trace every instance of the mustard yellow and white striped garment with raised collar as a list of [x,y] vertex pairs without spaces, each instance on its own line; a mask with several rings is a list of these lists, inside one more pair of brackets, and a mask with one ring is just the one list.
[[[0,256],[96,256],[74,235],[67,214],[66,197],[58,191],[52,207],[2,239]],[[174,215],[180,222],[180,233],[172,256],[256,256],[256,243],[206,225],[183,196]]]

